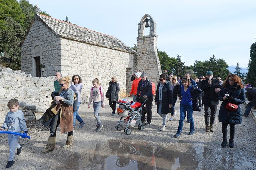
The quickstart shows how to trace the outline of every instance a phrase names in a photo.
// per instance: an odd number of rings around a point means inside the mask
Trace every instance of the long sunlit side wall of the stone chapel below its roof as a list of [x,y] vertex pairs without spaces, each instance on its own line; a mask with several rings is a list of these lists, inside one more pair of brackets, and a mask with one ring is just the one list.
[[96,77],[99,78],[106,92],[111,76],[116,76],[120,85],[119,96],[129,93],[126,80],[130,80],[132,75],[127,78],[126,71],[128,68],[129,72],[133,73],[133,60],[134,54],[132,53],[61,38],[61,73],[62,75],[78,74],[81,76],[82,102],[88,102],[92,87],[91,81]]

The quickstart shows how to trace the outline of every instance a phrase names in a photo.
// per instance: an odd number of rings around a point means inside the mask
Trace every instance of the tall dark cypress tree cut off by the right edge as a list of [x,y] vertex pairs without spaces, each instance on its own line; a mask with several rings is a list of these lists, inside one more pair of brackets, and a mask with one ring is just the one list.
[[250,63],[249,63],[249,70],[248,70],[248,81],[251,83],[253,87],[256,86],[256,42],[251,45],[250,50]]

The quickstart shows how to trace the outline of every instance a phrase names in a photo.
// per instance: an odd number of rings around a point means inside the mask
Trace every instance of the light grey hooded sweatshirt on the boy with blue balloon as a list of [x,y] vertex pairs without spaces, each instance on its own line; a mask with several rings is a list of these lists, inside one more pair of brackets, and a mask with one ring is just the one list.
[[14,113],[12,113],[11,111],[8,112],[2,128],[8,128],[8,131],[11,132],[24,131],[25,133],[28,133],[24,113],[21,110],[18,110]]

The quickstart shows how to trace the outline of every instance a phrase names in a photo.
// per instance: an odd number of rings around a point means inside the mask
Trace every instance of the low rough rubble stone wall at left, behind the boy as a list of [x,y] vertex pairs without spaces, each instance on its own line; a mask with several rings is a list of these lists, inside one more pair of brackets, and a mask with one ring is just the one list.
[[32,77],[22,71],[4,68],[0,72],[0,100],[15,98],[35,105],[37,112],[45,112],[52,101],[53,82],[53,77]]

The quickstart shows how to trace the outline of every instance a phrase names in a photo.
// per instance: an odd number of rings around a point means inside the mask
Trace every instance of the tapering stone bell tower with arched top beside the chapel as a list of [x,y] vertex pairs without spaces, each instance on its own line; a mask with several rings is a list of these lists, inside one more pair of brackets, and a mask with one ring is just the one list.
[[[148,27],[149,20],[149,35],[145,36],[145,25]],[[160,74],[162,74],[159,57],[157,54],[157,35],[156,22],[154,19],[145,14],[138,24],[137,37],[137,54],[135,56],[135,69],[146,72],[148,79],[153,81],[156,86]]]

